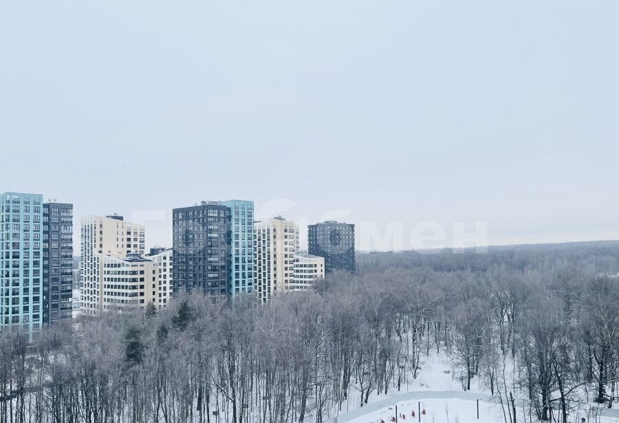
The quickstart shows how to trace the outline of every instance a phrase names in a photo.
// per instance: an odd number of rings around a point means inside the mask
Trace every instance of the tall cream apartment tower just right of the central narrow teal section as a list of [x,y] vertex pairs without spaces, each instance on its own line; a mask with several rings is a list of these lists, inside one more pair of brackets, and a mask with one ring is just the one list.
[[298,226],[283,217],[254,223],[256,241],[256,292],[259,303],[285,292],[294,281],[294,252]]

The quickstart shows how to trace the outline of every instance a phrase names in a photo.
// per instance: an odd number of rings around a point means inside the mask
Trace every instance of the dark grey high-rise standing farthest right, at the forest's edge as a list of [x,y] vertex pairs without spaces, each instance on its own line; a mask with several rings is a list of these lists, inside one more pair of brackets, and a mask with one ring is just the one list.
[[308,252],[325,258],[325,272],[355,271],[355,226],[324,221],[307,226]]

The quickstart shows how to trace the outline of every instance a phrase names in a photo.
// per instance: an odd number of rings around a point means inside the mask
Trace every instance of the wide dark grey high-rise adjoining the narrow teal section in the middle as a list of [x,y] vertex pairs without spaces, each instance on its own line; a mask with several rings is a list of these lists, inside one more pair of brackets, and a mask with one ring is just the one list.
[[173,293],[199,290],[210,297],[229,292],[231,210],[219,202],[173,210]]

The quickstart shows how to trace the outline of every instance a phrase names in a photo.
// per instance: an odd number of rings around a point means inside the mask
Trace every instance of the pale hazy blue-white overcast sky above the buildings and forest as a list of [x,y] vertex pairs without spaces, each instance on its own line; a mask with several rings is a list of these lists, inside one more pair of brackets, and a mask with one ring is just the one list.
[[231,198],[362,249],[422,221],[617,239],[618,5],[1,1],[0,191],[146,219],[149,245]]

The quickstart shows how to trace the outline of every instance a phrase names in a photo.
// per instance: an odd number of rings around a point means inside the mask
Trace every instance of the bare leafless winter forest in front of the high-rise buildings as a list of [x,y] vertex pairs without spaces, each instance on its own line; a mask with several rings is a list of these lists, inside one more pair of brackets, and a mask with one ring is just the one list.
[[497,395],[506,423],[567,422],[583,395],[611,404],[613,246],[461,257],[360,254],[358,274],[264,306],[182,296],[32,343],[3,334],[0,423],[327,422],[405,389],[431,354],[453,359],[463,389],[474,380]]

